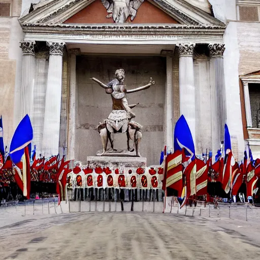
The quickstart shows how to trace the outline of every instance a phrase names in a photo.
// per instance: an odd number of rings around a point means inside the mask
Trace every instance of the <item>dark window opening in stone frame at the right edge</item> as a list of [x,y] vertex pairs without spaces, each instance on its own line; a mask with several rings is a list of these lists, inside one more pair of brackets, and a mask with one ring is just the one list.
[[[260,84],[249,83],[249,99],[251,107],[252,127],[259,128],[260,122]],[[259,111],[258,111],[259,110]],[[258,111],[258,113],[257,113]],[[257,118],[258,115],[258,118]],[[258,123],[258,125],[257,125]]]

